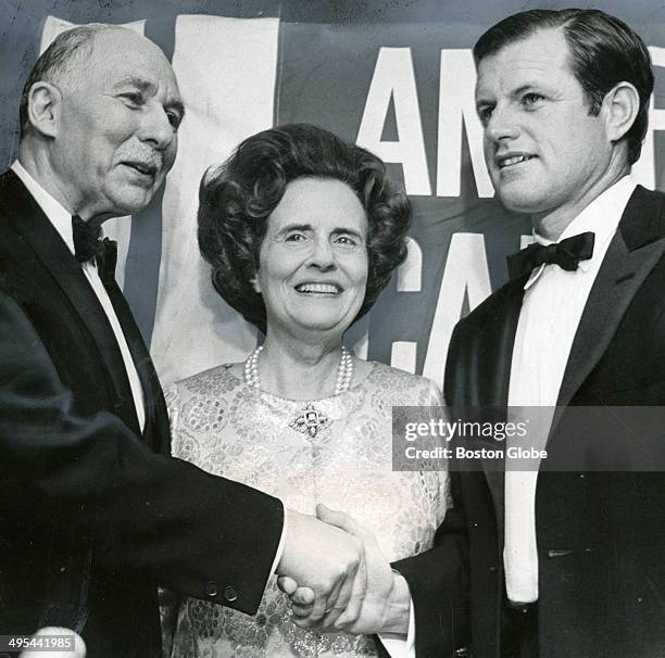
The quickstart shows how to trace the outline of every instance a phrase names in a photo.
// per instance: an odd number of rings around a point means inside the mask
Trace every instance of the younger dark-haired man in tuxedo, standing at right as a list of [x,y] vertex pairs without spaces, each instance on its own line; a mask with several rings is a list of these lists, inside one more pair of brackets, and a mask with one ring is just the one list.
[[656,656],[665,477],[545,472],[573,470],[573,452],[607,465],[615,451],[625,470],[638,445],[662,454],[665,418],[639,435],[618,422],[601,435],[593,422],[581,431],[572,408],[665,403],[665,197],[629,177],[649,53],[601,11],[534,10],[490,28],[474,55],[487,166],[503,204],[531,214],[537,245],[455,328],[446,397],[453,408],[565,408],[540,472],[453,473],[473,655]]

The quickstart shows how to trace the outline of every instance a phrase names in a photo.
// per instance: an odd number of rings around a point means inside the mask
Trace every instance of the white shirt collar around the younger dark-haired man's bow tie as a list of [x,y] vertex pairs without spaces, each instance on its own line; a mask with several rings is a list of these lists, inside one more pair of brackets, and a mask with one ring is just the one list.
[[[586,273],[598,258],[605,254],[605,245],[613,238],[622,215],[626,210],[628,200],[632,195],[637,182],[630,176],[624,176],[620,180],[608,187],[602,194],[598,195],[561,233],[557,240],[548,240],[534,229],[534,242],[538,244],[553,244],[566,238],[591,231],[595,233],[593,241],[593,255],[587,261],[580,261],[578,268]],[[547,264],[537,267],[527,279],[524,289],[527,290],[540,278]]]

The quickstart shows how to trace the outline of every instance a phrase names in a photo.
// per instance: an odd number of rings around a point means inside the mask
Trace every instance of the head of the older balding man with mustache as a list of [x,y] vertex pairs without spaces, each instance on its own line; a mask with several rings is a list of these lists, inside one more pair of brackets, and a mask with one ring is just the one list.
[[20,160],[72,214],[142,210],[173,166],[184,115],[162,50],[114,25],[54,39],[22,98]]

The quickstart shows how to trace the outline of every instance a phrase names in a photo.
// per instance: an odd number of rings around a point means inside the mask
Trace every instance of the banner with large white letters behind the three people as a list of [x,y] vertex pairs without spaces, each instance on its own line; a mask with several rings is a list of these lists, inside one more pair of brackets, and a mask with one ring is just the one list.
[[[480,2],[465,12],[423,2],[418,14],[409,9],[413,3],[384,12],[382,2],[362,10],[351,2],[250,2],[239,10],[235,2],[201,0],[199,13],[195,2],[170,3],[162,13],[146,0],[122,10],[101,0],[28,4],[0,9],[1,110],[4,125],[15,126],[0,144],[7,165],[16,153],[21,84],[63,29],[121,23],[153,39],[173,62],[188,106],[176,164],[146,211],[106,225],[121,245],[120,282],[164,383],[242,359],[256,342],[255,330],[210,284],[196,240],[198,188],[205,169],[240,140],[287,122],[314,123],[371,149],[410,194],[409,258],[348,342],[361,356],[442,383],[455,322],[505,280],[505,255],[529,240],[528,217],[493,199],[470,54],[477,37],[518,3],[502,2],[491,15]],[[665,10],[636,5],[623,8],[624,15],[611,2],[597,4],[624,17],[650,47],[656,93],[633,177],[665,189],[658,135],[665,130]]]

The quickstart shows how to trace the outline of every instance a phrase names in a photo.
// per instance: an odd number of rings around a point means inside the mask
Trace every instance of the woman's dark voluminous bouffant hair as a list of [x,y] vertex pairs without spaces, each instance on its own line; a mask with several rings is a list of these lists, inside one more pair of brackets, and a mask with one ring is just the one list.
[[[381,160],[332,132],[291,124],[246,139],[199,190],[199,248],[215,290],[266,330],[265,306],[251,284],[268,217],[289,182],[304,177],[347,184],[367,216],[367,289],[355,319],[372,308],[392,270],[406,257],[411,208],[389,182]],[[354,320],[355,321],[355,320]]]

